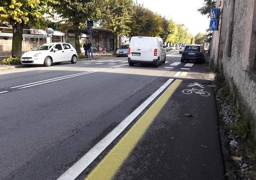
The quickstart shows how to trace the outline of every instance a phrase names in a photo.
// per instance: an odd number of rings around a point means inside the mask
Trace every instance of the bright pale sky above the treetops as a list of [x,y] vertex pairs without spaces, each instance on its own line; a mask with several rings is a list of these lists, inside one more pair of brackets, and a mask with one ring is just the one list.
[[[136,0],[133,0],[136,2]],[[137,0],[153,12],[157,12],[177,23],[184,24],[188,31],[196,35],[206,33],[210,19],[201,15],[197,9],[203,6],[204,0]]]

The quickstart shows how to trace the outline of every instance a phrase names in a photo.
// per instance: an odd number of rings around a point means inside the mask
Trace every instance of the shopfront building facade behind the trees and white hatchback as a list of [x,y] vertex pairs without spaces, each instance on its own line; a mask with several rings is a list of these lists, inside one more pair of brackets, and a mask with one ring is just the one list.
[[[69,28],[60,28],[62,24],[58,24],[60,19],[56,15],[51,19],[52,24],[48,27],[55,25],[56,29],[51,37],[48,37],[45,30],[34,30],[28,28],[23,30],[22,53],[30,51],[39,44],[43,43],[71,43],[75,47],[75,34]],[[11,56],[13,30],[7,23],[0,23],[0,58]],[[104,29],[99,23],[94,23],[93,34],[88,34],[87,30],[81,30],[80,43],[81,52],[84,52],[82,45],[85,41],[91,41],[94,50],[100,51],[106,48],[107,51],[115,51],[116,38],[111,30]]]

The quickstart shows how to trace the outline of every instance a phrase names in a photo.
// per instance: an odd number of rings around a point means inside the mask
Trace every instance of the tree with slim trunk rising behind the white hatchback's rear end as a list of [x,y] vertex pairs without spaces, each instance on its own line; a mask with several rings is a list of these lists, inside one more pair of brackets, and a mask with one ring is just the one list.
[[100,20],[101,8],[100,0],[60,0],[60,5],[55,6],[57,13],[65,21],[65,25],[74,30],[78,53],[80,53],[81,29],[86,27],[87,20]]

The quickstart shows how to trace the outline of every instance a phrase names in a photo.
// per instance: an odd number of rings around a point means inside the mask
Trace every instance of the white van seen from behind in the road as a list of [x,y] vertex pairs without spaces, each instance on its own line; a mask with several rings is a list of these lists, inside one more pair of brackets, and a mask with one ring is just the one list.
[[166,49],[162,38],[132,37],[128,48],[128,63],[152,63],[155,67],[165,63]]

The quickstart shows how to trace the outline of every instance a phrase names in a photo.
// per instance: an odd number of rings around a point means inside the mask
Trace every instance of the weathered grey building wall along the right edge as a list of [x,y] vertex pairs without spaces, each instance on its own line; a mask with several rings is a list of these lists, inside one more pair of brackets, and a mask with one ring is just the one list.
[[217,7],[222,31],[213,33],[211,61],[222,66],[235,104],[251,117],[256,136],[256,0],[218,0]]

